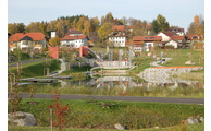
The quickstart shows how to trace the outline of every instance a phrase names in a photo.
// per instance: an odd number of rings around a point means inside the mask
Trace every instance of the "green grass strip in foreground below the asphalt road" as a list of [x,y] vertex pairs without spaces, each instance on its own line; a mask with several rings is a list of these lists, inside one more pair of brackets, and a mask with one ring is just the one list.
[[[50,126],[48,106],[53,105],[53,99],[34,99],[38,105],[29,105],[27,102],[30,102],[30,99],[22,100],[21,111],[30,112],[35,116],[38,126],[35,129],[41,127],[40,129],[48,130],[49,128],[46,128]],[[171,130],[182,127],[179,126],[181,121],[190,116],[200,115],[204,117],[204,106],[194,104],[107,102],[95,100],[90,97],[84,100],[60,99],[60,103],[62,105],[69,104],[70,107],[64,117],[66,121],[64,129],[66,131],[77,128],[79,128],[78,130],[84,129],[87,131],[90,129],[107,129],[109,131],[114,129],[115,123],[121,123],[128,130],[153,129],[154,127]],[[53,119],[55,118],[53,117]],[[9,127],[13,128],[12,126]],[[18,129],[18,127],[16,128]],[[193,129],[193,131],[196,129],[201,130],[203,124],[188,126],[186,128]]]

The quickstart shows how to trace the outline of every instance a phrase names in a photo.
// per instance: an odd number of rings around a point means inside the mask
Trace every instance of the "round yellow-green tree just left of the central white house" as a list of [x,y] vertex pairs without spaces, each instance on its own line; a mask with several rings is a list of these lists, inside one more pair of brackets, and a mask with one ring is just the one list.
[[105,40],[109,36],[109,34],[112,32],[112,24],[111,23],[104,23],[99,29],[98,35],[101,39]]

